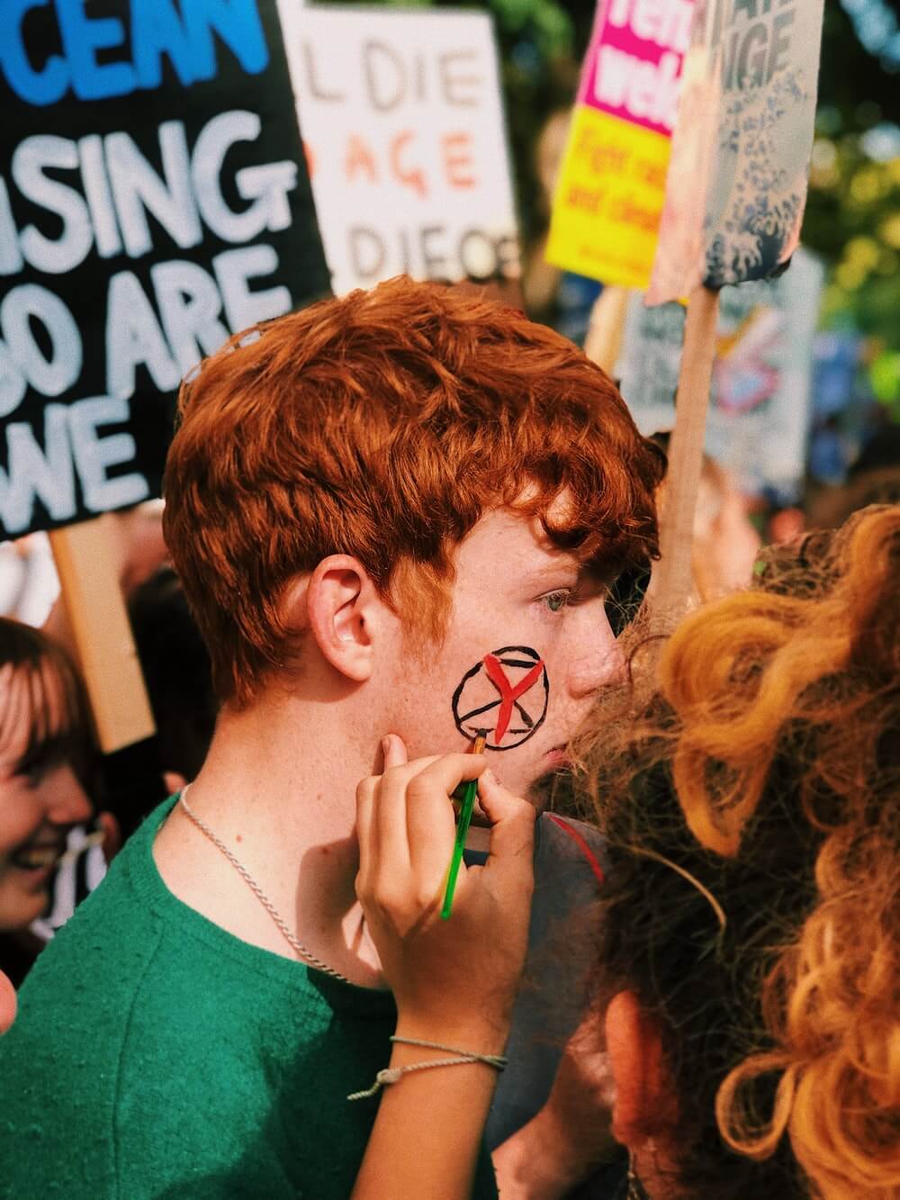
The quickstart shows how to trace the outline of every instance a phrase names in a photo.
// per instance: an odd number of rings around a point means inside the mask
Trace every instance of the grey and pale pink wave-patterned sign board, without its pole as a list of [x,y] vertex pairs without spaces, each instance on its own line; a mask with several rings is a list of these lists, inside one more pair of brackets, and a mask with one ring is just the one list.
[[797,247],[822,0],[697,0],[648,304],[762,280]]

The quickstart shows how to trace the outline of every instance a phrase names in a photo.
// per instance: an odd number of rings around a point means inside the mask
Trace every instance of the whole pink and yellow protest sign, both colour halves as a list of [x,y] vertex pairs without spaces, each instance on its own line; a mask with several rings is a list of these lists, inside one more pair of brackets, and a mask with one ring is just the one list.
[[553,203],[557,266],[647,287],[692,10],[694,0],[601,0]]

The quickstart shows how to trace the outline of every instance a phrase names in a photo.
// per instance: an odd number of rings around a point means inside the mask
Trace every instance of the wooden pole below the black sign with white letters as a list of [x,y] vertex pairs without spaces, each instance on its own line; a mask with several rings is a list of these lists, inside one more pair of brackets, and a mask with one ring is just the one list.
[[103,754],[155,732],[113,551],[114,520],[107,515],[54,529],[49,535],[61,600]]

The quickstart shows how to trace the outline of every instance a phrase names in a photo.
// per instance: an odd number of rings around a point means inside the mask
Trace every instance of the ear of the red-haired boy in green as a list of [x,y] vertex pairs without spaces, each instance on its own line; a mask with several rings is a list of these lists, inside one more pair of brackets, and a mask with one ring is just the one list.
[[[300,599],[300,598],[298,598]],[[382,601],[362,564],[347,554],[323,558],[305,588],[306,625],[335,671],[355,683],[373,666],[372,635]]]

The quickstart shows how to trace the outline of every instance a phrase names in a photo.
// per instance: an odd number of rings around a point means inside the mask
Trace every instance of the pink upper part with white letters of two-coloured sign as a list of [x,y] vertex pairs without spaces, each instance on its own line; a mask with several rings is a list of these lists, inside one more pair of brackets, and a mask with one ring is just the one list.
[[578,100],[671,136],[694,0],[604,0]]

